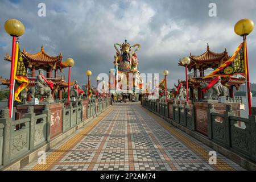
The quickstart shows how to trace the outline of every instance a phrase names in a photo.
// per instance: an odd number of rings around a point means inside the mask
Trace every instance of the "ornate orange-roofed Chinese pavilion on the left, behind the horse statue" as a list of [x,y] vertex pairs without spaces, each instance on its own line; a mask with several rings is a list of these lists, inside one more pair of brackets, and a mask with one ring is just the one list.
[[[68,82],[65,81],[65,76],[59,76],[58,73],[63,72],[64,68],[67,68],[65,64],[62,62],[62,55],[61,53],[57,56],[50,56],[46,52],[44,52],[44,47],[41,47],[41,51],[35,54],[28,53],[23,48],[22,51],[24,65],[27,68],[27,77],[29,79],[28,88],[35,85],[36,79],[36,70],[43,69],[46,72],[44,75],[47,80],[51,80],[53,82],[53,96],[55,96],[55,92],[58,91],[58,98],[62,99],[62,91],[67,90]],[[5,56],[6,61],[11,61],[11,56]],[[3,85],[10,85],[9,79],[2,79],[0,80]],[[71,85],[73,83],[71,82]],[[28,96],[28,100],[30,97]]]

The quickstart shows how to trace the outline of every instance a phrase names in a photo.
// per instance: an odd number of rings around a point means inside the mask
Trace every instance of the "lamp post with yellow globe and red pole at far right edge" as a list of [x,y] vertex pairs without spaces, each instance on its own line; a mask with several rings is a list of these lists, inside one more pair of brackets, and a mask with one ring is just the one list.
[[239,20],[236,25],[234,26],[234,31],[237,35],[243,37],[243,48],[246,51],[246,85],[247,85],[247,98],[248,98],[248,109],[249,115],[251,115],[251,86],[250,86],[250,76],[249,76],[249,63],[248,63],[248,56],[247,56],[247,43],[246,43],[246,36],[253,31],[254,23],[251,19],[241,19]]

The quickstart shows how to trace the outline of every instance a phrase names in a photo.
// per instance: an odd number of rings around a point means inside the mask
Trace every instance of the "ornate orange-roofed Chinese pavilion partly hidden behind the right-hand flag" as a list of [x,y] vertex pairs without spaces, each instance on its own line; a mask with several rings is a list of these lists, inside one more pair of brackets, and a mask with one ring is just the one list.
[[[188,71],[192,72],[188,75],[188,86],[190,89],[190,98],[195,99],[194,90],[197,90],[197,99],[201,100],[204,98],[204,93],[200,88],[201,82],[209,83],[212,78],[205,78],[212,71],[207,71],[207,69],[212,68],[216,69],[220,67],[221,64],[225,63],[225,61],[229,60],[230,56],[226,49],[224,49],[221,53],[216,53],[210,51],[209,45],[207,44],[207,51],[204,52],[200,56],[195,56],[190,53],[189,58],[191,59],[191,63],[188,64]],[[180,66],[183,66],[179,63]],[[221,77],[222,85],[225,85],[229,88],[229,96],[234,98],[234,87],[238,90],[241,84],[245,83],[244,77]],[[183,85],[185,86],[185,81],[183,81]]]

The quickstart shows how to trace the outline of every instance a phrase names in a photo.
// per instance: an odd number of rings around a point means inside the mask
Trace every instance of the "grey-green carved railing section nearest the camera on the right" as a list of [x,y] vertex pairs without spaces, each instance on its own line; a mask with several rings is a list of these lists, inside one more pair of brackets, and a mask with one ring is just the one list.
[[[253,107],[255,111],[255,107]],[[234,116],[232,107],[224,114],[210,110],[209,138],[256,162],[256,113],[249,118]],[[241,124],[242,123],[242,124]]]

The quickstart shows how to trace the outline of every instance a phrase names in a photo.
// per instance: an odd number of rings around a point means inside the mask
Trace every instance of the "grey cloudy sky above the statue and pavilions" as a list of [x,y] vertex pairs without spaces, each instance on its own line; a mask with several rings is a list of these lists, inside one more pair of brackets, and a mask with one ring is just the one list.
[[[38,16],[38,4],[46,4],[46,17]],[[210,17],[209,3],[216,3],[217,16]],[[162,73],[168,69],[168,85],[184,79],[184,68],[177,63],[183,56],[201,55],[209,43],[214,52],[226,48],[232,55],[242,38],[234,24],[250,18],[256,22],[256,1],[246,0],[160,0],[160,1],[0,1],[0,75],[10,76],[10,63],[3,60],[11,53],[11,37],[4,23],[19,19],[26,27],[20,47],[36,53],[44,45],[49,55],[63,54],[76,63],[72,78],[85,84],[85,72],[99,73],[114,68],[114,43],[125,39],[141,44],[137,52],[141,73]],[[247,37],[251,81],[256,82],[256,34]],[[67,73],[67,71],[65,71]],[[160,75],[160,78],[163,76]],[[94,82],[95,84],[95,82]]]

